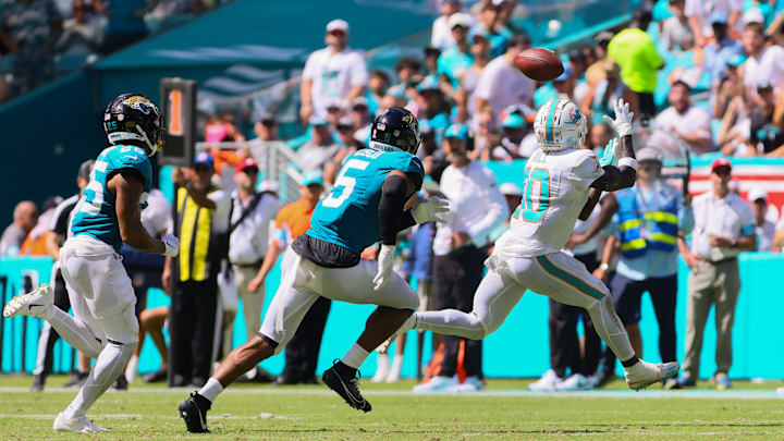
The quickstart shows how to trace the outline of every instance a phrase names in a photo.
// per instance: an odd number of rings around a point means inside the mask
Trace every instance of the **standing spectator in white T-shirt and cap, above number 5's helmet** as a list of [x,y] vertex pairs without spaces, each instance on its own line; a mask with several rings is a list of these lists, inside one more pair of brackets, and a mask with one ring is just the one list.
[[323,115],[331,99],[351,102],[364,94],[368,81],[365,59],[346,46],[348,23],[329,22],[324,42],[327,47],[311,53],[305,63],[299,89],[302,121],[314,114]]

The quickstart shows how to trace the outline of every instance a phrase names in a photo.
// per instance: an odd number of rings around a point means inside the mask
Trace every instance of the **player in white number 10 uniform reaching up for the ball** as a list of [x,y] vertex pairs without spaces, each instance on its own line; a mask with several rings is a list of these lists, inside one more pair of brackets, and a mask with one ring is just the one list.
[[[480,340],[494,332],[526,290],[588,310],[599,336],[623,360],[626,383],[644,389],[674,376],[678,364],[649,364],[639,359],[613,309],[610,291],[585,265],[561,252],[577,219],[587,219],[602,192],[634,185],[637,162],[632,147],[628,105],[615,103],[615,119],[604,120],[621,138],[618,167],[600,167],[591,150],[580,146],[586,118],[567,99],[551,99],[536,115],[539,149],[523,172],[523,203],[510,229],[495,242],[486,261],[489,271],[474,297],[471,313],[455,309],[415,313],[401,332],[412,328]],[[379,351],[385,351],[390,341]]]

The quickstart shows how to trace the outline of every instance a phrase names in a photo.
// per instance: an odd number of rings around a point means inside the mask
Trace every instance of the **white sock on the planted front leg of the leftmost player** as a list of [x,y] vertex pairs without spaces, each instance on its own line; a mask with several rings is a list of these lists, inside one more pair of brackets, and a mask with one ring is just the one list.
[[84,416],[93,403],[120,377],[135,348],[136,342],[108,343],[98,355],[98,359],[78,394],[63,412],[65,418]]

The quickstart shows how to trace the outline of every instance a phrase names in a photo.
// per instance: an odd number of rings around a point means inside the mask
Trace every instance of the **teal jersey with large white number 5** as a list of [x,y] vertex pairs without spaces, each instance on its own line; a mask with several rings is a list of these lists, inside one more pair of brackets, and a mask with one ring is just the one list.
[[350,156],[329,196],[316,206],[305,234],[356,254],[378,242],[381,185],[392,170],[425,177],[419,158],[405,151],[366,148]]

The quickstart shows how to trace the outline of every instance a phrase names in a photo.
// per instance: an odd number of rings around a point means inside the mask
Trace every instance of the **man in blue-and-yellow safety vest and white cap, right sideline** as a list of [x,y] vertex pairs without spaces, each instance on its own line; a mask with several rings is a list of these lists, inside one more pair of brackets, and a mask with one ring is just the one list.
[[[674,362],[677,237],[691,231],[694,215],[690,197],[684,199],[679,189],[661,179],[661,151],[644,147],[636,156],[637,184],[615,194],[618,209],[609,226],[602,262],[593,274],[610,279],[615,310],[638,356],[642,353],[640,299],[644,293],[650,294],[659,322],[659,354],[662,362]],[[618,250],[617,267],[610,278],[610,264]],[[615,356],[605,351],[591,383],[604,384],[614,378],[614,370]]]

